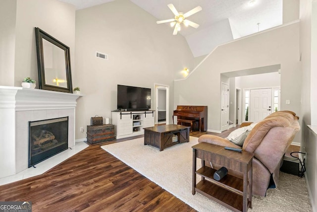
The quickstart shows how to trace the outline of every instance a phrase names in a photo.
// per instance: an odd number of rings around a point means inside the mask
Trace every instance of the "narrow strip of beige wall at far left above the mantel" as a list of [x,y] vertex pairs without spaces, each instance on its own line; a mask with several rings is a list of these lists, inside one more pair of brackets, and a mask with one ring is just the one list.
[[0,85],[14,86],[16,0],[0,1]]

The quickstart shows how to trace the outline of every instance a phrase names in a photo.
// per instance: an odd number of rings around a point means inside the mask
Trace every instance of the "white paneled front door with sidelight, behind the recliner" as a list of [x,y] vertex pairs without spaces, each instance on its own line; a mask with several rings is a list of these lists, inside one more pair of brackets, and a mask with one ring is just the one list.
[[250,122],[264,119],[272,112],[272,89],[251,89],[250,91]]

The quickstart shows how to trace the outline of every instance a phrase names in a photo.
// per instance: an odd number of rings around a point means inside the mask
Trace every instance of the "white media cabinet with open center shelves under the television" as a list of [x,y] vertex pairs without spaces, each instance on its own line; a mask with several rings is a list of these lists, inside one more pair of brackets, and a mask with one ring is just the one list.
[[154,111],[112,111],[116,139],[143,135],[143,128],[154,127]]

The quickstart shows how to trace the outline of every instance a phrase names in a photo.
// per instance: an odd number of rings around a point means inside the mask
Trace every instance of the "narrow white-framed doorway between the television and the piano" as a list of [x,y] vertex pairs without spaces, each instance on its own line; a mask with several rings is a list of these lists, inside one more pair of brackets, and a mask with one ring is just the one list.
[[169,124],[169,86],[155,86],[155,124]]

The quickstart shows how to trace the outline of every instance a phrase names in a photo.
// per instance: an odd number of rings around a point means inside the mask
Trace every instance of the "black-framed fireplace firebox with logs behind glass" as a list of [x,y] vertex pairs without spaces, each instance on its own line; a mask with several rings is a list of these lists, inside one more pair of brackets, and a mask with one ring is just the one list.
[[68,117],[29,122],[29,167],[68,148]]

